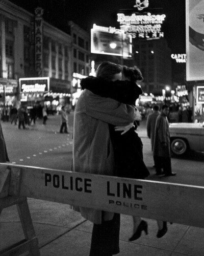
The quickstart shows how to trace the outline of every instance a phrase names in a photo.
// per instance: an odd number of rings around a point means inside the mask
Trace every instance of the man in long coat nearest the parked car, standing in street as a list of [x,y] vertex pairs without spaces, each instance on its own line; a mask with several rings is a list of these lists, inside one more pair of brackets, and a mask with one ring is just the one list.
[[156,161],[156,173],[162,173],[163,168],[165,176],[175,176],[176,173],[171,171],[168,113],[169,107],[163,105],[161,114],[156,120],[153,154]]

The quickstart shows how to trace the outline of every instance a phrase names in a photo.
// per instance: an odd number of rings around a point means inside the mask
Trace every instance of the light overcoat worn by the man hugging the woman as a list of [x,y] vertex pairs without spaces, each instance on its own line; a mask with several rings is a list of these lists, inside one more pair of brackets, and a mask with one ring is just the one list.
[[[127,125],[136,118],[135,107],[103,98],[84,90],[74,111],[73,172],[115,176],[113,147],[109,123]],[[101,224],[102,211],[74,207],[82,217]],[[104,219],[111,220],[112,212],[105,212]]]

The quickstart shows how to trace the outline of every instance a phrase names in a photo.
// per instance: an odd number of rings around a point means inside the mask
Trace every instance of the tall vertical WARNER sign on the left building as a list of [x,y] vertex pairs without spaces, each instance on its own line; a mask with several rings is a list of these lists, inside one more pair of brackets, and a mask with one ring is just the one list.
[[42,14],[42,8],[35,9],[35,70],[38,76],[42,76]]

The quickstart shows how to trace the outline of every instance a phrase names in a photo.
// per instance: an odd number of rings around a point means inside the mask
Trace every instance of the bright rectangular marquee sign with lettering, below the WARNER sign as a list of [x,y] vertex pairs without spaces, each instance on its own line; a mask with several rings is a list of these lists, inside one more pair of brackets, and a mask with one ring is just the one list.
[[19,79],[21,93],[49,92],[49,77],[34,77]]

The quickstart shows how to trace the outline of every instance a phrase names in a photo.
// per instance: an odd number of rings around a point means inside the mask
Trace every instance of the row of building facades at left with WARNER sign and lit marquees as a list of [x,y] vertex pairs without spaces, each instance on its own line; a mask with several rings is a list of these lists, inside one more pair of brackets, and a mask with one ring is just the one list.
[[79,79],[89,75],[90,35],[73,22],[65,33],[45,22],[42,8],[33,11],[0,0],[1,101],[69,103],[73,78],[76,92]]

